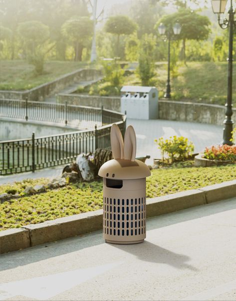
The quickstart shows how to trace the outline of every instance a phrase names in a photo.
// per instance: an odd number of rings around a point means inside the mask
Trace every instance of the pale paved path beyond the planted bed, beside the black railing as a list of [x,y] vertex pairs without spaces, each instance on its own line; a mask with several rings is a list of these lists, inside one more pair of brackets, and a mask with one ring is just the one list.
[[[161,152],[154,143],[159,137],[168,138],[171,135],[188,137],[195,145],[195,152],[204,150],[206,146],[218,144],[222,140],[223,127],[219,125],[179,122],[171,120],[138,120],[127,119],[127,125],[132,124],[137,136],[137,157],[150,155],[146,160],[153,164],[153,158],[161,158]],[[0,184],[21,181],[26,178],[57,177],[60,176],[63,166],[38,170],[35,173],[27,172],[11,176],[0,177]]]

